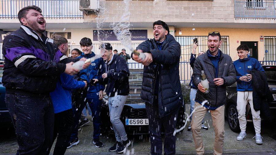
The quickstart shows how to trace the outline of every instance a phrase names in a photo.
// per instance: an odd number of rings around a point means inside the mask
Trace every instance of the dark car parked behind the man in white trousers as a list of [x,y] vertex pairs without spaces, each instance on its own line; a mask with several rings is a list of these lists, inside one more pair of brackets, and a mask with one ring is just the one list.
[[[274,65],[263,65],[265,70],[266,79],[270,92],[273,94],[274,101],[268,103],[272,114],[275,116],[276,112],[276,66]],[[238,119],[237,111],[237,83],[226,89],[226,105],[225,105],[225,116],[227,117],[229,127],[234,132],[240,132],[240,123]],[[274,112],[275,111],[275,112]],[[260,114],[262,117],[262,112]],[[250,104],[246,106],[245,117],[247,122],[253,122]]]

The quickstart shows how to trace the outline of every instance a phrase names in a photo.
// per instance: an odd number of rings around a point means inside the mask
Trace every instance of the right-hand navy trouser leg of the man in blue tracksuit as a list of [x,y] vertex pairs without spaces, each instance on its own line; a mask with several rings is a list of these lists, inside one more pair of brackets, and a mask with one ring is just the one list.
[[99,139],[101,134],[101,108],[102,102],[99,100],[99,92],[89,93],[86,96],[93,117],[93,139]]

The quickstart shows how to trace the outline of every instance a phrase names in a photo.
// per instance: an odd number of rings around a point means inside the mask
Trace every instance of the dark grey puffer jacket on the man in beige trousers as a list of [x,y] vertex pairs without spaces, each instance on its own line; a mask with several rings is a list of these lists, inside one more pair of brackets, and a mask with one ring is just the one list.
[[236,71],[233,65],[233,61],[229,55],[223,54],[220,50],[220,60],[218,62],[218,78],[224,78],[225,83],[222,86],[216,86],[213,79],[215,76],[215,67],[207,55],[201,54],[197,57],[194,63],[193,70],[193,80],[194,85],[197,87],[198,83],[201,81],[201,70],[204,70],[207,80],[209,81],[210,92],[208,94],[203,94],[201,91],[197,90],[196,98],[197,101],[205,101],[205,103],[210,106],[220,106],[226,103],[226,87],[231,86],[236,82]]

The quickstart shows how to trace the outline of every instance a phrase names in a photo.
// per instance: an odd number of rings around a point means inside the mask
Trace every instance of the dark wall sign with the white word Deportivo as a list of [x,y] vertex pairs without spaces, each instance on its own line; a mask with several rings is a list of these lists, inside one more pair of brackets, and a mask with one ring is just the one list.
[[[148,30],[129,30],[131,32],[131,40],[147,40]],[[100,39],[102,41],[118,41],[113,30],[100,30]],[[93,41],[98,41],[98,31],[93,30]]]

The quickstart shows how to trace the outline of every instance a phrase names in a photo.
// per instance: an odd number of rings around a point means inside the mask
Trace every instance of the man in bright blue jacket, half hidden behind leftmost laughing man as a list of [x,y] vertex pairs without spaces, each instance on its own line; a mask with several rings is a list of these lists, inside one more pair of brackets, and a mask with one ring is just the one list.
[[[54,43],[63,54],[67,54],[68,41],[61,35],[52,37]],[[67,47],[67,48],[66,48]],[[65,55],[61,59],[68,59]],[[72,93],[71,89],[85,88],[86,81],[77,81],[74,76],[62,73],[56,84],[56,89],[50,93],[54,105],[55,123],[52,144],[56,137],[56,145],[53,154],[64,154],[73,129]],[[50,147],[51,148],[51,147]],[[47,150],[47,154],[51,149]]]

